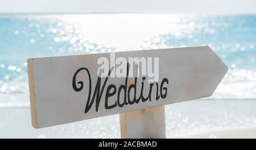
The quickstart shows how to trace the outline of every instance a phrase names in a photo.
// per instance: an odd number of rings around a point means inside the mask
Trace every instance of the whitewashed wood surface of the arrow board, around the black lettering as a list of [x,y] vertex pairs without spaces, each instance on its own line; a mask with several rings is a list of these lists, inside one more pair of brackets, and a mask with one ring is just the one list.
[[[110,84],[117,88],[125,84],[125,78],[109,78],[102,91],[98,110],[94,101],[91,109],[85,113],[85,105],[89,97],[88,73],[83,71],[77,75],[76,85],[80,86],[79,81],[84,84],[81,91],[73,89],[72,79],[77,69],[87,68],[92,78],[93,95],[98,79],[97,60],[100,57],[109,59],[110,53],[28,59],[33,127],[55,126],[209,97],[228,70],[227,66],[209,47],[117,52],[115,57],[125,57],[126,59],[128,57],[159,57],[159,82],[163,78],[167,78],[169,81],[168,85],[164,85],[167,88],[167,97],[160,98],[158,101],[152,99],[152,101],[105,109],[106,88]],[[133,78],[129,78],[128,84],[134,83],[133,80]],[[102,78],[101,89],[104,81],[105,78]],[[142,83],[142,78],[138,78],[138,84],[140,83]],[[137,97],[141,90],[140,86],[138,85]],[[154,86],[154,88],[156,87]],[[144,93],[148,93],[149,89],[149,84],[144,84]],[[154,89],[151,93],[152,98],[155,98],[156,90]],[[92,95],[90,99],[92,99]],[[124,97],[123,93],[121,93],[121,97]],[[109,97],[108,101],[109,105],[113,105],[117,101],[117,94]]]

